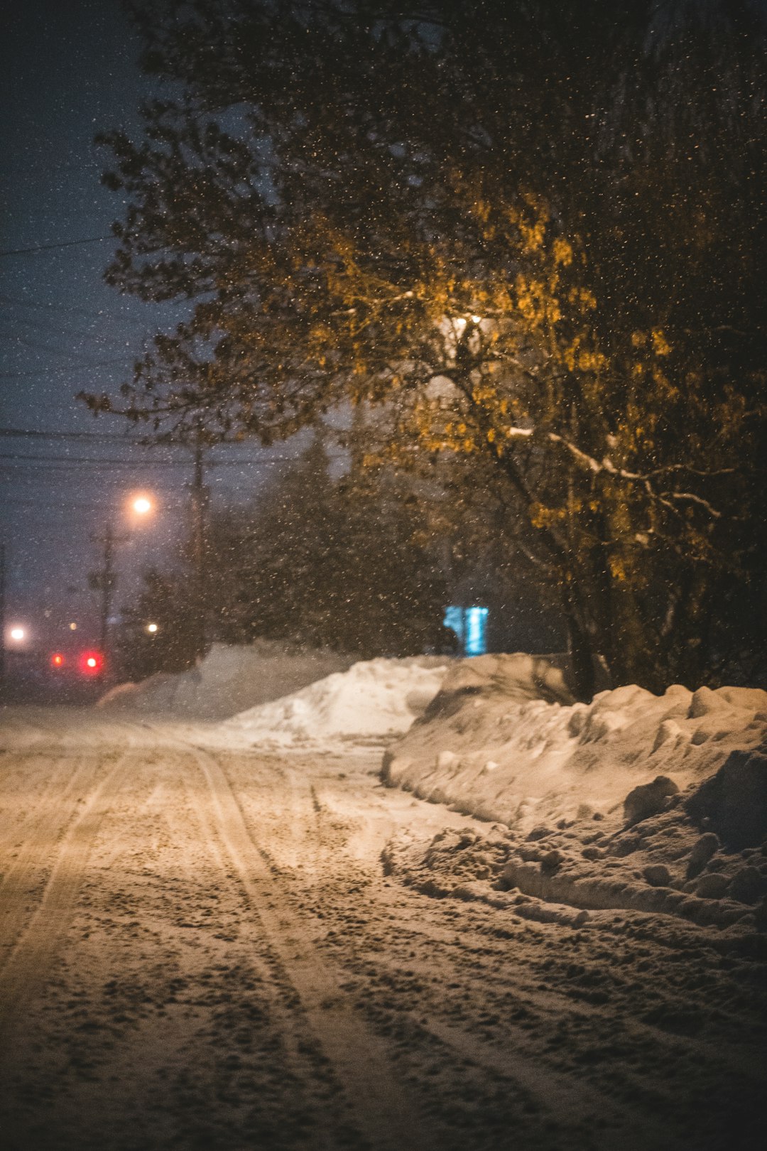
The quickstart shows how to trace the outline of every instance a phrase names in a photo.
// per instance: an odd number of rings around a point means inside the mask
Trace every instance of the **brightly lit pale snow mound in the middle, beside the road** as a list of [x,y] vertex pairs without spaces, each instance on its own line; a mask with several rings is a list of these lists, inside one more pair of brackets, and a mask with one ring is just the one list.
[[221,727],[251,746],[378,742],[407,731],[446,672],[446,661],[434,656],[369,660],[245,711]]

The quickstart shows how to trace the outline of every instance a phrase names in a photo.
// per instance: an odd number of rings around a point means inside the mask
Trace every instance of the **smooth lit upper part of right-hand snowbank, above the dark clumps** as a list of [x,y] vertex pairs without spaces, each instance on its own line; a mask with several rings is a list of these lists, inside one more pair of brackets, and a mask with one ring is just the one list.
[[529,831],[622,814],[629,791],[657,776],[682,791],[766,738],[766,692],[674,685],[657,696],[630,686],[575,703],[552,661],[489,655],[453,666],[386,753],[384,778]]

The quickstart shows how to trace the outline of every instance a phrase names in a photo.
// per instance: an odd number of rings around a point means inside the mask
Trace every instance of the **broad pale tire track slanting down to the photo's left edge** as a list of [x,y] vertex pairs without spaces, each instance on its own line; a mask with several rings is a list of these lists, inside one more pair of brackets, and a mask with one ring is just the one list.
[[[43,895],[25,927],[24,920],[29,915],[25,902],[9,901],[8,913],[2,921],[3,937],[13,938],[15,933],[17,938],[0,968],[0,1049],[5,1045],[3,1039],[7,1032],[13,1030],[24,1004],[45,980],[59,942],[67,931],[75,910],[93,840],[114,795],[123,783],[126,765],[133,754],[132,749],[129,749],[120,756],[87,796],[79,814],[69,822],[57,844],[55,860]],[[46,826],[48,822],[44,821]],[[36,831],[39,832],[39,825]],[[32,844],[39,843],[39,834],[36,834]],[[31,856],[32,849],[30,847],[24,853],[24,859]],[[21,867],[22,863],[16,860],[16,872]]]

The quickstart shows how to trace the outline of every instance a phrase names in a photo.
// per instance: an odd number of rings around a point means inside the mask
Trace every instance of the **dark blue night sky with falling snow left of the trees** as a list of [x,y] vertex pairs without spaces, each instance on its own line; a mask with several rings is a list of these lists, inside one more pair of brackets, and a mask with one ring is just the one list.
[[[118,0],[16,3],[3,21],[0,532],[7,624],[26,624],[41,645],[55,643],[70,619],[93,634],[87,573],[99,554],[91,536],[107,523],[128,536],[117,556],[117,604],[120,589],[124,602],[139,572],[167,563],[187,531],[189,453],[121,443],[115,437],[135,435],[125,421],[94,420],[75,399],[80,389],[116,391],[151,333],[175,320],[170,306],[144,305],[107,288],[101,276],[114,242],[90,243],[108,237],[122,214],[120,199],[100,186],[109,159],[93,136],[114,127],[137,130],[138,104],[152,92],[137,56]],[[20,251],[25,249],[41,250]],[[221,463],[208,474],[214,505],[258,490],[281,453],[284,448],[250,445],[215,453]],[[153,523],[131,532],[123,505],[137,488],[156,493],[159,504]]]

